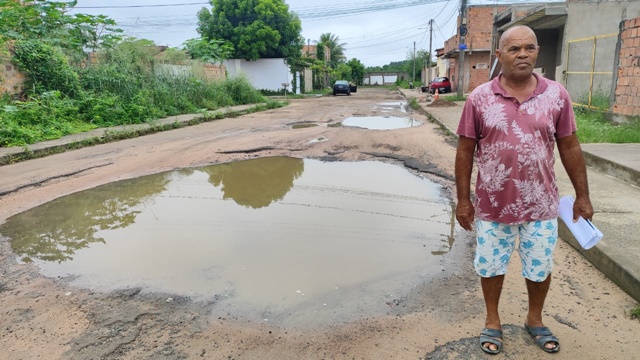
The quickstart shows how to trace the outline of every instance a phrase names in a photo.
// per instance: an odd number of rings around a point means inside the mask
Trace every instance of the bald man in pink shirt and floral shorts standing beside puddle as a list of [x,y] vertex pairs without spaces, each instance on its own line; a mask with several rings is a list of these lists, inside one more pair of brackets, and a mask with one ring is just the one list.
[[556,144],[576,193],[574,221],[593,216],[571,99],[562,85],[533,72],[539,49],[529,27],[505,31],[496,50],[502,72],[469,95],[457,130],[456,219],[466,230],[475,227],[474,267],[487,312],[480,346],[490,354],[502,350],[498,303],[516,240],[529,295],[524,327],[542,350],[560,350],[542,321],[558,240]]

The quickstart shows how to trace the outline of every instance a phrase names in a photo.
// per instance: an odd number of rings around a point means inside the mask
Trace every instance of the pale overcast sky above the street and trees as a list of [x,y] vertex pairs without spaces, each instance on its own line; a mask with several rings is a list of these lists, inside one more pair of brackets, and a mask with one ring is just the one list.
[[[547,0],[538,2],[553,2]],[[285,0],[302,20],[302,36],[312,45],[330,32],[346,43],[348,59],[365,66],[382,66],[410,58],[414,49],[443,47],[455,35],[460,0]],[[469,0],[470,5],[504,5],[524,0]],[[125,34],[153,40],[157,45],[181,47],[198,37],[197,12],[211,8],[207,0],[78,0],[72,13],[104,14]]]

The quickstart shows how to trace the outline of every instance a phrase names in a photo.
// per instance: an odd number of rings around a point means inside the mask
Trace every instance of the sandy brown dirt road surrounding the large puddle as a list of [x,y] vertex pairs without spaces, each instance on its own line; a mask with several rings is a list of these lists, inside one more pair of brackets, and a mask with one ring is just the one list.
[[[455,148],[424,114],[384,111],[395,91],[292,100],[291,105],[0,167],[0,223],[57,197],[115,180],[261,156],[402,163],[453,196]],[[352,115],[411,116],[423,126],[398,130],[331,127]],[[292,129],[294,123],[319,126]],[[312,141],[312,140],[326,141]],[[109,293],[73,287],[16,261],[0,241],[0,359],[482,359],[484,325],[473,244],[458,231],[442,273],[386,316],[286,328],[210,316],[199,303],[139,289]],[[512,259],[502,295],[505,347],[496,359],[547,357],[522,328],[526,291]],[[545,311],[561,340],[556,359],[637,359],[637,304],[560,242]],[[381,300],[382,301],[382,300]]]

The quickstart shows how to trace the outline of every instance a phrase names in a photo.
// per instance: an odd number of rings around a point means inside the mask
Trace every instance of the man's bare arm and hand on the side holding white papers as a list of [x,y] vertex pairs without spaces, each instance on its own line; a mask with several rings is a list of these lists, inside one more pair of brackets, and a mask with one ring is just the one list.
[[571,179],[576,192],[576,201],[573,204],[573,220],[580,216],[587,220],[593,217],[593,206],[589,199],[589,183],[587,181],[587,167],[584,163],[582,149],[576,133],[557,139],[558,152],[564,169]]

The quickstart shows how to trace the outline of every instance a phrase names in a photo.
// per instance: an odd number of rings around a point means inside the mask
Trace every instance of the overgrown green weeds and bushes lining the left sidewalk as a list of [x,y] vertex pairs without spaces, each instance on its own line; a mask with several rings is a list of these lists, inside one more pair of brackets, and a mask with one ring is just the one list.
[[244,77],[204,80],[193,69],[154,60],[146,40],[129,40],[71,64],[53,46],[16,42],[29,75],[22,99],[0,98],[0,147],[24,146],[97,127],[149,123],[201,109],[266,102]]

